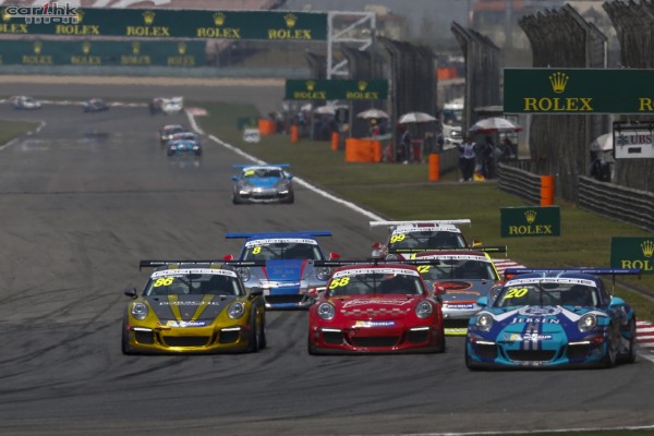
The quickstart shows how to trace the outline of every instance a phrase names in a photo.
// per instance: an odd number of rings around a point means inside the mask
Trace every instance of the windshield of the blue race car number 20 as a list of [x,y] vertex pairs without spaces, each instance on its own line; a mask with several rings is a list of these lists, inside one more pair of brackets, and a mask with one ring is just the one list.
[[494,307],[523,305],[586,306],[598,303],[597,288],[569,282],[508,283],[495,299]]

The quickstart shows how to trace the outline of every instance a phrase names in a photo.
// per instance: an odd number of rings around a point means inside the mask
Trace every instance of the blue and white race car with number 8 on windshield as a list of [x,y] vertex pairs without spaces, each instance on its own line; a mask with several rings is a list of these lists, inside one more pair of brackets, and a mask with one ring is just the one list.
[[[330,231],[227,233],[227,239],[245,239],[238,261],[265,261],[265,266],[239,268],[245,288],[263,288],[268,308],[305,308],[315,303],[318,289],[325,289],[331,268],[314,267],[326,261],[317,237]],[[329,258],[339,255],[330,253]],[[225,256],[231,261],[233,256]]]

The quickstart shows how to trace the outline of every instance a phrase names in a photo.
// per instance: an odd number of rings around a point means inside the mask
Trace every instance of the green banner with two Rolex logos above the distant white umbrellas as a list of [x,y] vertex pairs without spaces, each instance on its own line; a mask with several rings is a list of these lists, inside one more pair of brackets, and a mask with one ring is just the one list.
[[385,100],[385,80],[287,80],[287,100]]

